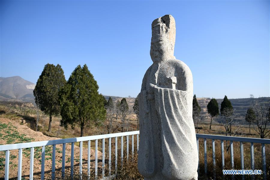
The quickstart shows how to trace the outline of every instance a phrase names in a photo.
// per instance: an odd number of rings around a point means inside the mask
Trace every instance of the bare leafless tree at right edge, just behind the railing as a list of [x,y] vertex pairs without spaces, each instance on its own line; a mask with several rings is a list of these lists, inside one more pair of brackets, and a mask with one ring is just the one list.
[[252,122],[253,128],[263,139],[270,134],[270,130],[266,129],[270,125],[270,101],[267,103],[256,101],[253,111],[255,114],[255,121]]

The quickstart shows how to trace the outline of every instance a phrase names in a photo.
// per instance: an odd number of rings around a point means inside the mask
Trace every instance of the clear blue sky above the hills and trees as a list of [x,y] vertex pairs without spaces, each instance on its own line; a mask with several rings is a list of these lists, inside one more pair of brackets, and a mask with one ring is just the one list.
[[36,83],[52,63],[68,79],[87,64],[100,93],[136,97],[165,14],[197,97],[269,96],[269,1],[1,1],[0,75]]

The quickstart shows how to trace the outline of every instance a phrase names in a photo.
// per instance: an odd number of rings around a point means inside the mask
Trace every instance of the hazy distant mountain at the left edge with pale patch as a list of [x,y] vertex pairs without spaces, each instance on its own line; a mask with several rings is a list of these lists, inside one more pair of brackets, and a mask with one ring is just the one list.
[[0,77],[0,99],[33,99],[35,84],[20,76]]

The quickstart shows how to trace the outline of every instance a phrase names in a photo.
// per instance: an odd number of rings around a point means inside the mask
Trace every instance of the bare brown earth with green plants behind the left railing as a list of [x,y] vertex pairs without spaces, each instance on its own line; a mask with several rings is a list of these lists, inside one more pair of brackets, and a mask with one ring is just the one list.
[[[36,132],[25,125],[23,119],[0,118],[0,144],[13,144],[34,141],[56,140],[59,138],[48,137],[41,132]],[[86,142],[84,142],[86,144]],[[95,149],[91,149],[91,167],[95,162]],[[71,144],[66,144],[65,167],[70,167]],[[98,151],[98,159],[102,153]],[[83,169],[87,171],[87,148],[83,148]],[[0,179],[4,177],[5,152],[0,152]],[[74,166],[79,165],[79,147],[74,146]],[[22,155],[22,177],[29,179],[30,149],[23,149]],[[50,173],[52,167],[52,146],[46,146],[45,150],[45,173]],[[55,169],[62,167],[62,145],[56,145]],[[10,151],[10,173],[9,178],[16,179],[18,171],[18,150]],[[34,153],[34,179],[40,179],[41,172],[41,147],[35,148]]]

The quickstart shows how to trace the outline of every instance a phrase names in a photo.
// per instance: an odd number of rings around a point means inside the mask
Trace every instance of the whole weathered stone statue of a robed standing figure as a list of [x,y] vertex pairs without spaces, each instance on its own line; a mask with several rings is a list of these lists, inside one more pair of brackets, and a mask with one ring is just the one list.
[[192,120],[193,80],[189,67],[173,56],[175,20],[152,22],[148,68],[139,94],[138,169],[145,180],[197,179],[198,151]]

